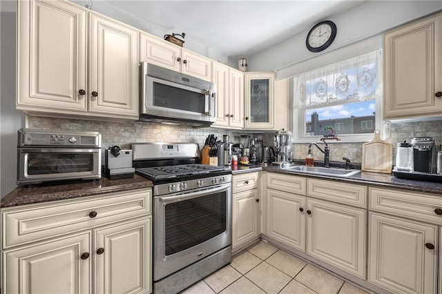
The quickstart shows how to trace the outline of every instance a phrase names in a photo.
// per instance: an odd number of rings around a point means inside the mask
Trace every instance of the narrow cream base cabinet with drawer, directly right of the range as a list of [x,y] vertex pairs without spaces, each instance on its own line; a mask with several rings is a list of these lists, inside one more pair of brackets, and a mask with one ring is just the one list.
[[259,238],[259,172],[233,175],[232,251],[239,251]]

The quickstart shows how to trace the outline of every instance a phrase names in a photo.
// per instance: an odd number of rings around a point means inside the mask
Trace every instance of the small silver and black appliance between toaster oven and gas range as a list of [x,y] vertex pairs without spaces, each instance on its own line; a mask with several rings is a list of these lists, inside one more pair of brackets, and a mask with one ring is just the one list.
[[135,173],[135,168],[132,167],[132,150],[112,146],[105,150],[104,162],[108,179],[130,178]]

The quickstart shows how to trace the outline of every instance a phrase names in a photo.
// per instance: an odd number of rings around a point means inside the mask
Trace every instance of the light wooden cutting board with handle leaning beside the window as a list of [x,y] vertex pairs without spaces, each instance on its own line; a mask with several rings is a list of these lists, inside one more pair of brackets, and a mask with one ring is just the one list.
[[374,173],[392,173],[393,145],[383,141],[379,130],[374,132],[374,139],[362,146],[362,170]]

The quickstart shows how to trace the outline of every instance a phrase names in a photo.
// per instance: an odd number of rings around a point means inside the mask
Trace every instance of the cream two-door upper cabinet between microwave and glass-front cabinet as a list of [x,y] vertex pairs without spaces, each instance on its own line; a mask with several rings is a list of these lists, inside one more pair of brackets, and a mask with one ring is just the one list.
[[244,74],[212,62],[212,81],[216,84],[216,121],[212,126],[244,127]]

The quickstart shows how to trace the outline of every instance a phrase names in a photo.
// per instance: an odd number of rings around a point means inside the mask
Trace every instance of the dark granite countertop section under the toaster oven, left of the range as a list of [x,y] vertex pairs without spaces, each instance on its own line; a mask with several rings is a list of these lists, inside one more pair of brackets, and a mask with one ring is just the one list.
[[48,184],[19,186],[1,199],[0,208],[72,199],[105,193],[120,192],[149,188],[152,182],[139,175],[130,179],[108,179],[102,177],[93,181],[75,182],[70,184]]

